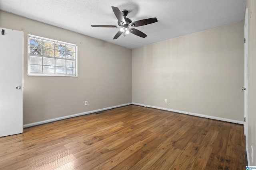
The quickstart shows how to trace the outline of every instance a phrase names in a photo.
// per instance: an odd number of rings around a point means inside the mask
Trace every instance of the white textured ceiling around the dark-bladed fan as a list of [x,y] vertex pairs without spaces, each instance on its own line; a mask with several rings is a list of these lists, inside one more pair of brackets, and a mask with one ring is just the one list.
[[[190,33],[244,20],[246,0],[0,0],[0,10],[69,29],[134,49]],[[132,21],[158,22],[136,27],[148,35],[113,39],[119,28],[111,6],[126,9]]]

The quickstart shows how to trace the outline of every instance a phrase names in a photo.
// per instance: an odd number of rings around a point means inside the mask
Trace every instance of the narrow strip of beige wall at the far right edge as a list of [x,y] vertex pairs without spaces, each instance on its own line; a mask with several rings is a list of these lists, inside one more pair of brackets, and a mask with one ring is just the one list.
[[[256,2],[246,0],[248,8],[248,160],[256,165]],[[252,150],[253,148],[253,150]]]

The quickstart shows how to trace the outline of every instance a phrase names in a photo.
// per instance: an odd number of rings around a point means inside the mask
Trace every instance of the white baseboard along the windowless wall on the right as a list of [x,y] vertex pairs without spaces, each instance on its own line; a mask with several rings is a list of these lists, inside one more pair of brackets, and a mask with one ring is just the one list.
[[151,107],[151,108],[155,108],[155,109],[166,110],[166,111],[173,111],[173,112],[177,112],[177,113],[184,113],[184,114],[187,114],[187,115],[193,115],[193,116],[215,119],[215,120],[220,120],[220,121],[227,121],[227,122],[231,122],[231,123],[238,123],[238,124],[242,124],[242,125],[244,124],[243,121],[238,121],[238,120],[233,120],[233,119],[226,119],[226,118],[222,118],[222,117],[215,117],[215,116],[210,116],[210,115],[191,113],[191,112],[188,112],[188,111],[168,109],[168,108],[165,108],[165,107],[149,106],[149,105],[145,105],[145,104],[138,104],[138,103],[132,103],[132,104],[138,105],[138,106],[144,106],[144,107]]

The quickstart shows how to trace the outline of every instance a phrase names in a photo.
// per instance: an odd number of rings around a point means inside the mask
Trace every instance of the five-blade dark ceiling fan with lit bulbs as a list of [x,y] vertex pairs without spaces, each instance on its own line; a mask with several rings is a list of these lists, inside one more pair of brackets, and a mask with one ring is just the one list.
[[120,35],[127,35],[128,33],[133,33],[134,35],[138,35],[139,37],[145,38],[147,35],[144,34],[142,31],[139,31],[138,29],[135,29],[134,27],[142,26],[142,25],[148,25],[150,23],[157,22],[156,18],[148,18],[144,20],[138,20],[132,22],[129,18],[126,18],[128,11],[123,10],[122,12],[117,8],[112,6],[112,10],[118,19],[118,25],[91,25],[92,27],[120,27],[120,31],[116,33],[113,39],[117,39],[120,37]]

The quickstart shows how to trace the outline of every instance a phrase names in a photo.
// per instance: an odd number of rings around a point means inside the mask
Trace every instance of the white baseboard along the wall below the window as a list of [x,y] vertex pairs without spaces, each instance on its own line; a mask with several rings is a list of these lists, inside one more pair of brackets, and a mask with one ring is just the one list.
[[77,114],[73,114],[73,115],[68,115],[68,116],[63,116],[63,117],[57,117],[57,118],[54,118],[54,119],[48,119],[48,120],[44,120],[44,121],[38,121],[38,122],[35,122],[35,123],[28,123],[28,124],[23,125],[23,128],[28,128],[28,127],[32,127],[32,126],[42,125],[42,124],[45,124],[45,123],[50,123],[50,122],[54,122],[54,121],[58,121],[58,120],[68,119],[68,118],[71,118],[71,117],[77,117],[77,116],[81,116],[81,115],[87,115],[87,114],[90,114],[90,113],[97,113],[97,112],[99,112],[99,111],[104,111],[104,110],[108,110],[108,109],[114,109],[114,108],[122,107],[122,106],[128,106],[128,105],[131,105],[131,104],[132,104],[132,103],[121,104],[121,105],[118,105],[118,106],[111,106],[111,107],[106,107],[106,108],[103,108],[103,109],[97,109],[97,110],[92,110],[92,111],[86,111],[86,112],[77,113]]

